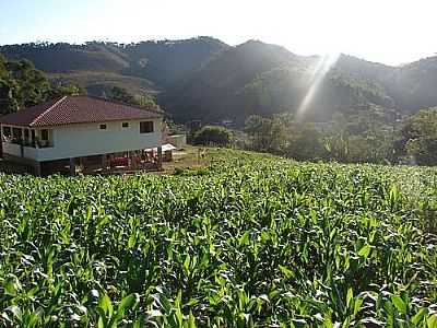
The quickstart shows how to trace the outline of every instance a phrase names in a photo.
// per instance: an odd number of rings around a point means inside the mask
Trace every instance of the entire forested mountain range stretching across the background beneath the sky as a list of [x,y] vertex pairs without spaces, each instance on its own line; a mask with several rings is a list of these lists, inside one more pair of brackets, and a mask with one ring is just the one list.
[[180,121],[241,122],[251,114],[296,113],[303,104],[314,120],[335,112],[410,114],[437,105],[437,57],[389,67],[342,55],[332,66],[320,67],[321,57],[297,56],[257,40],[231,47],[211,37],[129,45],[27,44],[3,46],[0,52],[26,58],[52,81],[79,84],[94,95],[113,86],[157,94]]

